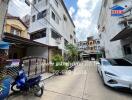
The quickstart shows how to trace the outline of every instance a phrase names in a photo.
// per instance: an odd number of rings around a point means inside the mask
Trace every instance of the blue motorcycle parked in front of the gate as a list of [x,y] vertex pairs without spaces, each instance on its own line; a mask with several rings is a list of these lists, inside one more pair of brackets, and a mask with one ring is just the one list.
[[44,86],[40,86],[41,76],[28,79],[24,70],[20,70],[15,81],[12,83],[11,90],[13,92],[30,92],[37,97],[43,95]]

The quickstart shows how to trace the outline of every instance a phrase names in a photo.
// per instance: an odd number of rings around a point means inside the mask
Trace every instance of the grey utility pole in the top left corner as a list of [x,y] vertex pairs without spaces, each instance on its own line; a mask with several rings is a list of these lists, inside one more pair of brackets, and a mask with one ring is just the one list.
[[0,0],[0,40],[4,32],[5,17],[8,9],[9,0]]

